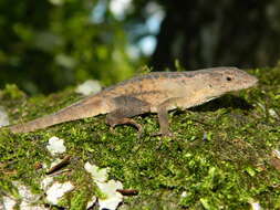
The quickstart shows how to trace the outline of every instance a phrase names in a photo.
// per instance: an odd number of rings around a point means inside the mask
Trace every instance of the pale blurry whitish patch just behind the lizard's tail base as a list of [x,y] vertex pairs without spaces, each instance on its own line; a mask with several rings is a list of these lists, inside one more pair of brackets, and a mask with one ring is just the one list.
[[76,93],[82,94],[82,95],[91,95],[91,94],[96,94],[101,91],[101,84],[98,81],[94,80],[89,80],[79,85],[75,90]]

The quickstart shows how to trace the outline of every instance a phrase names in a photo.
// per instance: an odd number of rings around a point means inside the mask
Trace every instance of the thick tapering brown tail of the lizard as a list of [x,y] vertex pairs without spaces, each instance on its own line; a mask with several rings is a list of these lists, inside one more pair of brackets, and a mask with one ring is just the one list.
[[86,103],[86,101],[79,102],[69,107],[65,107],[54,114],[46,115],[28,123],[10,126],[12,133],[28,133],[37,129],[45,128],[64,122],[93,117],[98,114],[105,114],[103,102],[98,98]]

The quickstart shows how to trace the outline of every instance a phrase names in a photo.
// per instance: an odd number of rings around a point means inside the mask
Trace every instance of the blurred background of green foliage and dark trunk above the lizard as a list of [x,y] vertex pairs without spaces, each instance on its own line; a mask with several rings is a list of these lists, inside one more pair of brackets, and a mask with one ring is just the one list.
[[280,57],[279,0],[0,0],[0,88],[48,94],[89,78],[261,67]]

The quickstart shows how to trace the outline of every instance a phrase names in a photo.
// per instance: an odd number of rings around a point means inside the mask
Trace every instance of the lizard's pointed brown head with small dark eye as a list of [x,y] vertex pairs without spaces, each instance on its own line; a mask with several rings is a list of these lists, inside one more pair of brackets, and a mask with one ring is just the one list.
[[209,87],[224,94],[255,86],[258,78],[237,67],[215,67],[209,72]]

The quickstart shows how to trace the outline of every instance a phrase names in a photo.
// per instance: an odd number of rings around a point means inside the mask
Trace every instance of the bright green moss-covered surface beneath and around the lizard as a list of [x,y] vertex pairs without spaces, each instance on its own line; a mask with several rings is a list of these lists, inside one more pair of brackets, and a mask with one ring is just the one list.
[[[45,174],[38,165],[50,162],[48,139],[65,140],[72,157],[66,174],[75,190],[65,204],[83,209],[94,195],[90,161],[110,168],[110,178],[123,182],[138,196],[125,197],[120,209],[280,209],[280,67],[251,70],[257,87],[227,94],[189,111],[169,113],[173,137],[155,137],[156,115],[135,119],[145,134],[137,138],[131,126],[110,132],[105,116],[63,123],[29,134],[0,130],[0,193],[17,195],[12,181],[42,193]],[[80,98],[73,88],[49,96],[27,97],[13,85],[0,92],[12,123],[50,114]],[[0,196],[1,196],[0,195]]]

